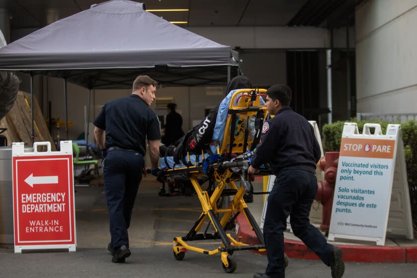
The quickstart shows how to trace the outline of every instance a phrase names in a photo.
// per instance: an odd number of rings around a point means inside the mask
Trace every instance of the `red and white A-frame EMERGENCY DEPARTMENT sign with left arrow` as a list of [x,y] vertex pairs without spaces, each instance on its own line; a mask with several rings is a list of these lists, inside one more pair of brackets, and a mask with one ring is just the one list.
[[[47,151],[38,152],[46,145]],[[71,141],[61,151],[35,142],[34,152],[13,143],[14,252],[29,249],[75,251],[75,208]]]

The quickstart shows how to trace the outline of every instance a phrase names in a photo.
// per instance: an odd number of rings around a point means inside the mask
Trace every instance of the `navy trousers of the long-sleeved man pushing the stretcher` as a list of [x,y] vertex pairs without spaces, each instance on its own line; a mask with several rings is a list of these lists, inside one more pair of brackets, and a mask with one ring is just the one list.
[[265,273],[274,278],[285,277],[284,236],[286,219],[294,235],[300,238],[327,266],[330,266],[333,245],[310,224],[310,209],[317,195],[317,178],[312,172],[283,170],[275,179],[268,197],[264,222],[264,239],[267,246],[268,266]]

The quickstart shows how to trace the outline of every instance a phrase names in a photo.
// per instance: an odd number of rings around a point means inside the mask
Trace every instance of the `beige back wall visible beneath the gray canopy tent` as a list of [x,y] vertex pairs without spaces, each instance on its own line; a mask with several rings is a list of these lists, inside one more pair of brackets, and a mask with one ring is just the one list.
[[[64,107],[64,85],[63,79],[47,78],[47,89],[43,91],[44,117],[48,117],[48,101],[51,102],[51,117],[65,119]],[[132,80],[133,82],[133,80]],[[36,84],[36,82],[34,82]],[[225,91],[225,86],[223,90]],[[35,89],[36,90],[36,89]],[[28,91],[28,90],[27,90]],[[67,83],[68,120],[72,122],[69,128],[69,139],[77,139],[84,132],[85,114],[88,104],[88,90],[70,82]],[[101,107],[109,100],[129,96],[131,90],[92,90],[90,99],[90,122],[100,113]],[[42,94],[41,94],[42,95]],[[39,93],[35,92],[38,97]],[[206,87],[164,87],[157,88],[157,97],[173,97],[177,103],[177,110],[183,116],[183,130],[188,131],[193,120],[202,119],[206,108],[217,105],[222,99],[221,96],[207,96]],[[41,103],[41,102],[40,102]],[[151,106],[154,109],[154,105]],[[86,111],[86,110],[85,110]],[[158,115],[165,115],[166,110],[155,110]],[[56,131],[53,132],[54,135]],[[60,128],[61,138],[64,138],[65,127]]]

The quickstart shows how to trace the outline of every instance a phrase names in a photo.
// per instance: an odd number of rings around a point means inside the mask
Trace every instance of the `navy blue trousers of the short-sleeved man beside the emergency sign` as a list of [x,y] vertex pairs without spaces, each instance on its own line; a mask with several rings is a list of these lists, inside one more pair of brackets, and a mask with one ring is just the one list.
[[138,152],[113,149],[108,152],[103,164],[110,234],[112,245],[117,248],[129,244],[128,228],[142,179],[144,160]]

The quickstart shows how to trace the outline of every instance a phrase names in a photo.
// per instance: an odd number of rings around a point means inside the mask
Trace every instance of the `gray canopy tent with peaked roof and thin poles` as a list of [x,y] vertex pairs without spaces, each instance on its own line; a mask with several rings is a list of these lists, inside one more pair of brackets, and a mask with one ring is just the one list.
[[[238,55],[145,10],[143,3],[111,0],[63,18],[0,49],[0,70],[64,78],[89,89],[131,88],[139,74],[164,85],[225,84],[238,74]],[[227,76],[227,79],[226,79]],[[87,113],[89,115],[89,113]],[[89,122],[89,120],[87,121]]]

